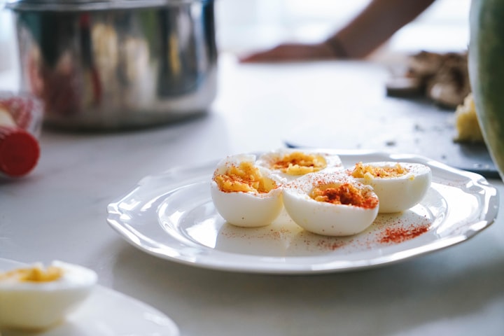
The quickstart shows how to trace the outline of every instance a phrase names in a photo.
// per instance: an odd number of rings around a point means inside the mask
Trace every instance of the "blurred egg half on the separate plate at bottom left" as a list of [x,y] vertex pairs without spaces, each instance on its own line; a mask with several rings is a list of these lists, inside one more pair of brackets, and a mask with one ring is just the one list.
[[0,330],[43,330],[61,322],[97,283],[91,269],[54,261],[0,272]]

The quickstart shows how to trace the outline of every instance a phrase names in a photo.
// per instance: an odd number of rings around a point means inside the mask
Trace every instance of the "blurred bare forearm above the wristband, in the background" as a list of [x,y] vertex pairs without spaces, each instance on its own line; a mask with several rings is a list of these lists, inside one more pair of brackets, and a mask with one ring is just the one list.
[[372,0],[370,4],[327,43],[335,55],[362,58],[414,20],[434,0]]

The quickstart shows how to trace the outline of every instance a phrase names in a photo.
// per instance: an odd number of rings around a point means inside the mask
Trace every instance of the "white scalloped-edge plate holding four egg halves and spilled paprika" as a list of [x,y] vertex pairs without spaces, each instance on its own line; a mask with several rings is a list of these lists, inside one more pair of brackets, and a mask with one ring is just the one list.
[[385,265],[452,246],[493,223],[496,188],[474,173],[416,155],[333,151],[356,162],[419,162],[433,171],[422,202],[380,214],[353,237],[314,235],[282,214],[265,228],[237,228],[219,216],[209,183],[217,162],[147,176],[109,204],[107,221],[124,239],[160,258],[234,272],[309,274]]

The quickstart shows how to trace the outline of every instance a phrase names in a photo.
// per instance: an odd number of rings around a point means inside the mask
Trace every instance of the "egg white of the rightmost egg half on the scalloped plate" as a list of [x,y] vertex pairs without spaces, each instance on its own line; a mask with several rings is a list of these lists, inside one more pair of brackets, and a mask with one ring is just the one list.
[[[412,208],[421,202],[430,188],[432,172],[426,165],[409,162],[364,162],[363,165],[393,167],[398,163],[408,170],[407,174],[386,178],[356,178],[357,181],[372,186],[379,198],[380,213],[400,212]],[[353,168],[347,172],[351,174],[352,171]]]

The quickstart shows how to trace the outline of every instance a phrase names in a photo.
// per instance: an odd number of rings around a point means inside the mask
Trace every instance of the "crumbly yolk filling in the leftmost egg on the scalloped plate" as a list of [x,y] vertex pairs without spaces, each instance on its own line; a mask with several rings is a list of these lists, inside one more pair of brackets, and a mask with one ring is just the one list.
[[240,162],[239,165],[232,165],[225,174],[214,176],[219,189],[224,192],[244,193],[269,193],[276,188],[273,180],[267,179],[260,174],[259,169],[251,162]]

